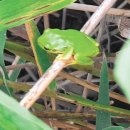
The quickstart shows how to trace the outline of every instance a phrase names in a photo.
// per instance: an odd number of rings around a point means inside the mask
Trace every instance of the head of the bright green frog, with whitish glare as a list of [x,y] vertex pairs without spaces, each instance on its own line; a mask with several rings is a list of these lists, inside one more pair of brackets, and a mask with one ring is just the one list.
[[64,53],[68,48],[66,40],[60,35],[59,29],[47,29],[43,35],[38,38],[41,48],[51,53]]

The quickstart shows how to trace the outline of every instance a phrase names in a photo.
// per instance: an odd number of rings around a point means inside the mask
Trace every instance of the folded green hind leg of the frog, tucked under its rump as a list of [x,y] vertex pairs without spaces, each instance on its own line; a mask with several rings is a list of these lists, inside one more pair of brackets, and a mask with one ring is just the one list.
[[94,63],[93,59],[87,56],[81,56],[79,54],[76,54],[74,56],[76,64],[80,65],[92,65]]

